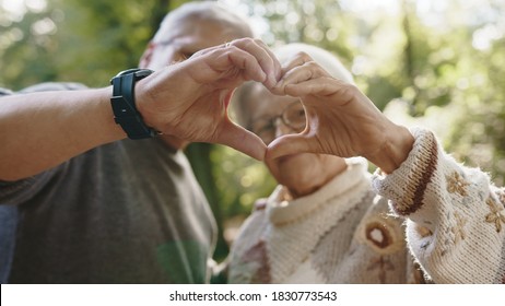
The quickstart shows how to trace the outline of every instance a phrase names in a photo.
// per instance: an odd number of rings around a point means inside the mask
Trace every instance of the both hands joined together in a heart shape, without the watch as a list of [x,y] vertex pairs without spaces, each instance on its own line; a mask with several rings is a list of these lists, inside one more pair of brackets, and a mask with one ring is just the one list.
[[[353,84],[330,76],[305,54],[281,68],[261,40],[243,38],[204,49],[152,75],[141,81],[146,83],[139,94],[146,96],[139,110],[149,126],[187,141],[225,144],[267,163],[302,152],[361,155],[389,173],[413,142],[404,127],[388,120]],[[273,94],[300,97],[305,130],[267,148],[232,122],[227,109],[233,91],[250,80]]]

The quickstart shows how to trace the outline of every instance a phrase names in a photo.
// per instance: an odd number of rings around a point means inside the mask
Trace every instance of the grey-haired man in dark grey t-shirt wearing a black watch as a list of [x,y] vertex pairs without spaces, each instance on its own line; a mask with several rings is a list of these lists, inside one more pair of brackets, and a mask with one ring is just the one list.
[[145,69],[113,87],[2,97],[2,282],[208,282],[215,221],[179,149],[208,141],[265,155],[226,115],[237,85],[272,87],[280,74],[262,43],[238,39],[250,36],[222,7],[189,3],[165,17]]

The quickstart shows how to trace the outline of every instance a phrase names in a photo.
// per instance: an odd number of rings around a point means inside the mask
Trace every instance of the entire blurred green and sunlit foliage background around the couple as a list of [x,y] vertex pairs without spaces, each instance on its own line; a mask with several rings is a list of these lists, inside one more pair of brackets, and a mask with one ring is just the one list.
[[[105,86],[136,67],[174,0],[0,0],[0,86],[44,81]],[[20,0],[21,1],[21,0]],[[14,1],[19,2],[19,1]],[[505,2],[501,0],[223,0],[271,46],[316,44],[337,54],[394,120],[433,129],[445,149],[505,181]],[[274,188],[265,166],[231,149],[191,144],[220,224],[216,259]]]

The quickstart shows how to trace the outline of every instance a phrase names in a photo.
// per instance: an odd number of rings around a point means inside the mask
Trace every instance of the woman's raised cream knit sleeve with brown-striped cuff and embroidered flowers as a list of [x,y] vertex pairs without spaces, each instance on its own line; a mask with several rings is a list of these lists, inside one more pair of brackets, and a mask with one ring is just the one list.
[[[408,216],[407,242],[426,278],[436,283],[504,282],[505,189],[481,169],[456,162],[439,145],[435,156],[428,131],[411,131],[415,142],[408,158],[394,173],[375,175],[374,187],[395,212]],[[430,168],[434,160],[435,168]],[[427,186],[421,179],[426,173],[432,173]],[[425,195],[409,198],[413,190]],[[422,199],[422,208],[413,210],[416,199]],[[406,213],[410,209],[414,213]]]

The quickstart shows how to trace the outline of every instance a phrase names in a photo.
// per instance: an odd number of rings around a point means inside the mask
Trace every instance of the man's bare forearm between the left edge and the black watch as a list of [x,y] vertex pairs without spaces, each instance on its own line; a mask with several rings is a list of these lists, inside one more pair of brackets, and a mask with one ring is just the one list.
[[17,180],[119,140],[111,87],[0,98],[0,179]]

